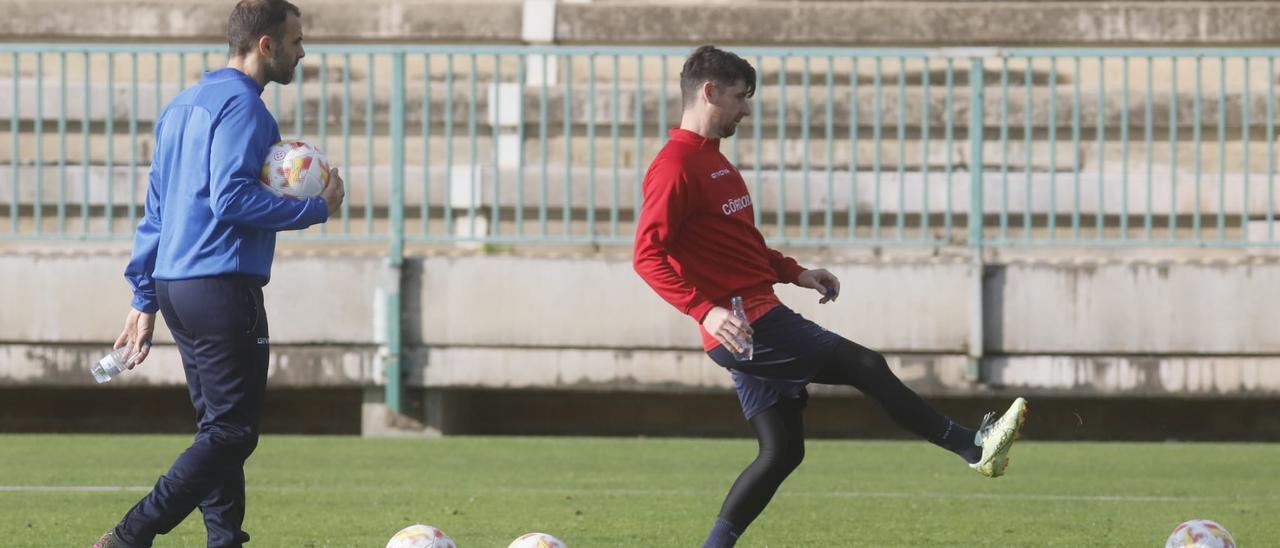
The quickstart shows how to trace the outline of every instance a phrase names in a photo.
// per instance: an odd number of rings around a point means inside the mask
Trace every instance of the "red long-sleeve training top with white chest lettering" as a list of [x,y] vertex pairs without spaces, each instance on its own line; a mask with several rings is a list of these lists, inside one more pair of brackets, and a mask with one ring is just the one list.
[[672,129],[644,178],[632,264],[662,298],[699,323],[703,347],[719,346],[701,320],[741,296],[748,320],[780,303],[776,283],[805,270],[764,243],[751,195],[719,140]]

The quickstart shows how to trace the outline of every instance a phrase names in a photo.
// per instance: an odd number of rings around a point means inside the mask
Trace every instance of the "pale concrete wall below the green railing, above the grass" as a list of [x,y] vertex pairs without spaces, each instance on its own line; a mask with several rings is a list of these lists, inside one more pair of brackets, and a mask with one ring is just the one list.
[[[1280,306],[1275,259],[1062,254],[993,262],[983,282],[986,359],[974,382],[965,260],[792,252],[829,268],[845,291],[837,303],[817,306],[808,291],[781,287],[783,301],[883,351],[931,397],[1280,396],[1280,342],[1268,321]],[[88,364],[118,334],[128,302],[125,259],[123,248],[0,255],[0,389],[92,387]],[[625,254],[449,252],[412,257],[403,271],[403,366],[426,398],[411,415],[436,431],[477,428],[447,412],[456,392],[732,393],[728,375],[701,355],[694,323],[653,296]],[[366,431],[378,430],[384,277],[376,255],[282,251],[266,291],[271,385],[362,389]],[[143,367],[96,389],[182,387],[164,328],[156,342]]]

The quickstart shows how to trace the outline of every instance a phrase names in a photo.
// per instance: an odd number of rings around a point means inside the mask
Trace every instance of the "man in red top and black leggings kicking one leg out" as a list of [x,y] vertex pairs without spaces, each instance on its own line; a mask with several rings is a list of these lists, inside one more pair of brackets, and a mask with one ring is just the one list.
[[[731,547],[804,458],[803,410],[809,383],[851,385],[897,424],[943,447],[983,475],[1009,465],[1009,448],[1027,414],[1023,398],[977,430],[941,415],[888,369],[884,356],[787,309],[776,283],[818,291],[836,301],[840,280],[769,248],[755,228],[751,195],[719,152],[751,114],[755,69],[712,46],[699,47],[680,73],[684,115],[644,179],[636,227],[636,273],[662,298],[700,324],[703,347],[728,369],[759,455],[739,476],[704,547]],[[730,310],[741,298],[740,318]]]

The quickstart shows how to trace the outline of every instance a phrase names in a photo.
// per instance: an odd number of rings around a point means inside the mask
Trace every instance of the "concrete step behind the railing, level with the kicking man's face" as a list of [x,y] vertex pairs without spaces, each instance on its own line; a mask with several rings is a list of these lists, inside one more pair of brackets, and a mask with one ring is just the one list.
[[[1239,74],[1234,76],[1239,77]],[[778,115],[783,113],[786,114],[786,124],[788,127],[799,127],[803,123],[804,113],[808,111],[810,127],[823,128],[827,124],[827,111],[829,109],[832,125],[838,129],[849,128],[855,113],[850,108],[850,91],[847,87],[833,88],[833,96],[828,101],[826,85],[818,78],[810,82],[809,93],[804,93],[797,82],[792,81],[792,87],[787,90],[785,97],[780,97],[781,93],[773,86],[762,88],[759,111],[753,113],[753,117],[762,120],[765,127],[772,128],[780,124]],[[1204,127],[1216,127],[1221,119],[1228,128],[1238,129],[1243,125],[1243,111],[1248,106],[1252,125],[1254,128],[1263,127],[1266,122],[1265,113],[1267,111],[1267,90],[1265,87],[1266,81],[1262,79],[1262,86],[1249,90],[1248,93],[1243,90],[1226,90],[1220,96],[1216,90],[1202,90],[1203,95],[1198,101],[1201,124]],[[329,125],[330,133],[340,132],[344,114],[353,131],[362,129],[369,122],[367,117],[370,111],[372,111],[374,124],[384,128],[389,123],[390,92],[385,88],[379,88],[374,95],[374,104],[370,109],[367,104],[370,96],[364,87],[353,86],[351,97],[348,99],[351,105],[349,113],[343,111],[344,102],[340,86],[329,86],[328,95],[321,96],[319,86],[314,83],[310,86],[305,85],[302,88],[301,108],[296,87],[280,93],[279,102],[275,101],[275,95],[271,92],[264,93],[264,100],[275,111],[282,128],[297,124],[300,115],[305,128],[317,128],[321,102],[324,102],[325,110],[324,122]],[[488,82],[479,85],[477,95],[472,101],[468,85],[454,85],[452,97],[449,97],[449,87],[434,83],[431,85],[431,91],[425,93],[430,97],[429,102],[424,102],[422,87],[411,83],[406,88],[406,131],[410,133],[419,131],[422,117],[428,110],[430,111],[433,127],[443,125],[447,120],[452,119],[456,127],[465,128],[471,120],[470,109],[474,102],[475,124],[481,133],[488,133],[494,119],[490,111],[490,88],[492,85]],[[104,124],[109,119],[108,110],[110,110],[110,122],[115,125],[115,131],[127,132],[128,124],[131,120],[134,120],[141,125],[143,132],[150,132],[151,123],[155,120],[157,111],[156,99],[160,97],[161,101],[168,101],[177,92],[178,87],[177,85],[166,83],[157,92],[154,86],[140,85],[137,99],[134,100],[128,86],[109,87],[105,83],[92,83],[86,90],[83,85],[70,85],[67,90],[65,110],[61,108],[64,102],[60,95],[61,91],[54,82],[46,82],[40,88],[33,81],[23,79],[15,88],[12,82],[0,81],[0,96],[12,96],[14,90],[18,93],[17,118],[14,117],[12,101],[0,101],[0,120],[8,120],[10,125],[14,119],[24,127],[40,119],[45,131],[51,131],[56,127],[59,117],[65,117],[65,123],[72,131],[82,131],[82,124],[86,119],[95,127]],[[42,91],[44,95],[40,109],[37,109],[36,97],[41,93],[37,93],[37,91]],[[525,127],[536,127],[541,117],[545,115],[549,122],[548,131],[553,134],[562,132],[566,92],[571,101],[570,122],[576,131],[581,131],[588,123],[593,123],[598,128],[609,127],[614,120],[623,128],[630,129],[637,120],[636,88],[634,85],[621,87],[617,97],[614,97],[608,82],[602,82],[596,86],[594,93],[589,93],[586,85],[575,85],[571,88],[566,88],[564,86],[549,87],[545,95],[545,110],[541,109],[541,88],[538,86],[526,86],[522,92],[522,119]],[[88,110],[86,110],[86,93],[91,97]],[[882,90],[877,99],[873,85],[859,85],[856,113],[859,127],[872,127],[876,117],[879,117],[886,125],[893,124],[901,115],[905,118],[908,127],[911,128],[923,127],[925,119],[933,128],[941,128],[946,124],[947,113],[951,113],[951,119],[956,127],[968,127],[969,124],[970,101],[968,87],[956,87],[950,102],[942,82],[933,82],[931,85],[928,101],[924,100],[925,95],[920,86],[906,87],[904,93],[900,97],[896,85],[888,82],[882,83]],[[1034,129],[1051,127],[1050,113],[1055,114],[1056,127],[1060,131],[1062,131],[1061,128],[1070,128],[1073,117],[1076,115],[1076,96],[1071,85],[1059,85],[1055,93],[1051,93],[1047,86],[1033,86],[1030,101],[1027,100],[1027,88],[1018,86],[1016,81],[1011,82],[1007,99],[1002,95],[1002,88],[998,85],[987,86],[984,95],[983,124],[988,128],[1000,127],[1002,120],[1006,119],[1006,100],[1007,119],[1014,132],[1019,132],[1027,125],[1028,111],[1032,114],[1030,125]],[[1248,104],[1245,104],[1245,95],[1248,95]],[[113,97],[110,109],[102,100],[106,96]],[[640,90],[640,96],[641,123],[657,123],[658,114],[662,111],[660,88],[645,85]],[[1128,110],[1123,108],[1125,101],[1124,95],[1116,90],[1103,91],[1101,101],[1098,97],[1097,85],[1082,86],[1078,99],[1082,128],[1093,129],[1097,127],[1100,109],[1102,109],[1101,122],[1107,128],[1119,128],[1125,119],[1128,119],[1130,128],[1143,127],[1147,110],[1144,92],[1130,90]],[[1158,90],[1153,93],[1151,101],[1152,127],[1157,129],[1167,128],[1170,125],[1170,111],[1174,106],[1176,106],[1178,111],[1178,127],[1190,128],[1196,125],[1197,118],[1194,111],[1197,108],[1197,96],[1193,92],[1193,85],[1187,85],[1176,93],[1176,102],[1170,97],[1171,95],[1167,90]],[[137,102],[136,110],[133,109],[134,101]],[[426,105],[425,110],[424,105]],[[508,120],[503,125],[515,125],[516,120],[520,119],[520,117],[513,117],[509,110],[517,108],[518,104],[516,102],[500,106],[499,115],[504,120]],[[677,88],[668,88],[666,105],[668,123],[678,122],[680,110],[680,91]],[[925,110],[929,114],[928,118],[924,117]],[[1275,115],[1272,123],[1280,123],[1280,109],[1272,108],[1272,111]],[[44,117],[37,117],[37,113],[44,113]]]

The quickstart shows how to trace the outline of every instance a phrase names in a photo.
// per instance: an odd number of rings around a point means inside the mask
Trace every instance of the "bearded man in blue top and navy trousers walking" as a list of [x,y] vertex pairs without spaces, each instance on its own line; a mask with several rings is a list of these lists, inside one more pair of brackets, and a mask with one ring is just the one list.
[[275,233],[324,223],[343,200],[337,169],[320,196],[291,198],[259,182],[280,140],[262,102],[303,56],[301,12],[285,0],[241,0],[227,28],[227,68],[205,73],[156,122],[146,216],[124,277],[133,302],[115,347],[146,359],[159,310],[187,374],[197,433],[124,519],[95,544],[150,547],[200,508],[210,547],[248,542],[244,460],[257,446],[269,335],[262,286]]

